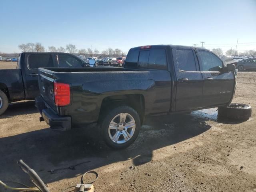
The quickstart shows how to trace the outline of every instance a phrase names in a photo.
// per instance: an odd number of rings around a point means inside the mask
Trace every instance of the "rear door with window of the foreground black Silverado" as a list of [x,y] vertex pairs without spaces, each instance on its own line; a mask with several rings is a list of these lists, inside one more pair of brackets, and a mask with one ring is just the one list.
[[193,48],[173,48],[176,81],[176,111],[202,107],[203,78]]

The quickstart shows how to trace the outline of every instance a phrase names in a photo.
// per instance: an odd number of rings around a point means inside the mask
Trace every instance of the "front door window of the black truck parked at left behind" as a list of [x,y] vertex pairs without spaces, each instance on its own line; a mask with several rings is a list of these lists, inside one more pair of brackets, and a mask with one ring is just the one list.
[[70,55],[58,55],[59,67],[82,67],[82,61]]

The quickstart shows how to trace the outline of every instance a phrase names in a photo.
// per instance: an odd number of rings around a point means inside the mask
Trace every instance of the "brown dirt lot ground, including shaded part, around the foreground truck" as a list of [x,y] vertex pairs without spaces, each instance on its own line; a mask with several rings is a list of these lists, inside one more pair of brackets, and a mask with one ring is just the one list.
[[31,185],[16,165],[23,159],[51,192],[80,183],[87,170],[100,174],[96,192],[255,192],[255,98],[256,72],[239,72],[233,102],[252,106],[249,120],[222,120],[216,108],[148,118],[125,150],[107,148],[93,129],[53,132],[34,102],[11,104],[0,116],[0,179]]

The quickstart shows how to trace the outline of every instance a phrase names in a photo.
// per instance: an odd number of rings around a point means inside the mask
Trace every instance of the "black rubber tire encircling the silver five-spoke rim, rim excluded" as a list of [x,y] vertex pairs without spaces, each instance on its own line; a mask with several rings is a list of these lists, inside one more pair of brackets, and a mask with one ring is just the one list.
[[[134,121],[136,124],[134,134],[132,135],[130,140],[122,144],[118,144],[112,141],[108,134],[108,127],[110,125],[111,120],[120,113],[130,114],[132,118],[134,118]],[[136,140],[140,132],[140,116],[133,108],[129,106],[119,106],[105,112],[105,115],[102,118],[101,129],[102,129],[102,138],[104,139],[107,146],[114,149],[123,149],[130,146]]]

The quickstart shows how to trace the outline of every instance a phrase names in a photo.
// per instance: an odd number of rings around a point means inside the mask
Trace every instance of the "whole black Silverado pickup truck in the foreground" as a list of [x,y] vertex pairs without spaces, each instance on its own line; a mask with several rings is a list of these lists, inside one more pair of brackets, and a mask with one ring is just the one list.
[[209,50],[131,48],[124,68],[39,68],[36,106],[52,129],[97,123],[106,144],[125,148],[146,115],[227,106],[236,88],[232,64]]

